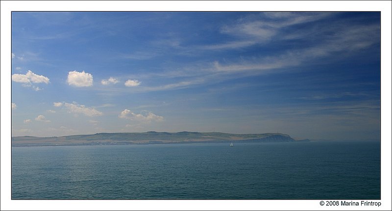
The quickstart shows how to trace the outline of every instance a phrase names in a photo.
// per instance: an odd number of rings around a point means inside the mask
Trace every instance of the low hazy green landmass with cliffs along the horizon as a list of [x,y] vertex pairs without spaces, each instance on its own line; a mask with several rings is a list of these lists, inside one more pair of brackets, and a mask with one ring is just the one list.
[[294,140],[282,133],[232,134],[222,132],[117,132],[90,135],[53,137],[12,137],[12,146],[70,146],[70,145],[126,145],[126,144],[181,144],[181,143],[246,143],[289,142]]

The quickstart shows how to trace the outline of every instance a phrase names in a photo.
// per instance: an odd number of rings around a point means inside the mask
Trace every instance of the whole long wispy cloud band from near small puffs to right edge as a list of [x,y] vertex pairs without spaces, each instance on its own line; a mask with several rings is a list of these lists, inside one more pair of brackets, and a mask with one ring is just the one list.
[[[379,36],[377,35],[378,30],[379,26],[377,25],[352,26],[345,28],[341,33],[329,35],[330,37],[327,40],[307,48],[286,50],[285,52],[275,55],[253,55],[248,58],[240,57],[230,61],[216,60],[210,63],[199,64],[197,67],[184,66],[182,68],[177,68],[176,70],[169,70],[162,73],[135,76],[145,78],[146,81],[159,78],[178,78],[177,82],[158,86],[146,85],[138,89],[138,91],[171,90],[251,75],[282,73],[290,71],[289,68],[291,67],[306,65],[315,62],[320,58],[336,55],[337,53],[341,56],[334,56],[333,59],[344,59],[346,56],[363,51],[379,42]],[[242,44],[247,45],[247,42],[239,42],[239,45]],[[220,48],[219,46],[210,47]],[[319,60],[317,62],[325,62],[325,60]],[[241,73],[241,75],[239,75],[239,73]],[[130,84],[136,85],[138,83],[131,82]]]

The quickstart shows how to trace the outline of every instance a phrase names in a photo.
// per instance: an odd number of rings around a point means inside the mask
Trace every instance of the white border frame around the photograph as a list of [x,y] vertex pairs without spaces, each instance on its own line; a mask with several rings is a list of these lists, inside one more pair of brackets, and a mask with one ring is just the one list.
[[[391,1],[1,1],[1,210],[391,210],[391,7]],[[10,200],[11,11],[381,11],[382,206],[326,207],[319,200]]]

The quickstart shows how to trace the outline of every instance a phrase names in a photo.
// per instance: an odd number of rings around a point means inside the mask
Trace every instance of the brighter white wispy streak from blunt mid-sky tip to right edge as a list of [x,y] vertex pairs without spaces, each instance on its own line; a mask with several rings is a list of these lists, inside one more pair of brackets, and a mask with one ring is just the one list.
[[308,48],[288,50],[279,55],[261,56],[257,59],[241,59],[240,62],[232,62],[226,65],[215,61],[214,67],[216,71],[221,72],[267,71],[302,65],[305,62],[336,53],[342,54],[341,58],[343,59],[343,56],[349,56],[378,43],[378,31],[379,26],[377,25],[352,26],[333,35],[327,41]]

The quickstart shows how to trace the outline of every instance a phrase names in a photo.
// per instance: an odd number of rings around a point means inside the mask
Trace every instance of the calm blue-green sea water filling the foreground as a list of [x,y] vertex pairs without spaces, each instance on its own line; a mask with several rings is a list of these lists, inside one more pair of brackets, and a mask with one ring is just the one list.
[[12,148],[12,199],[380,199],[380,142]]

